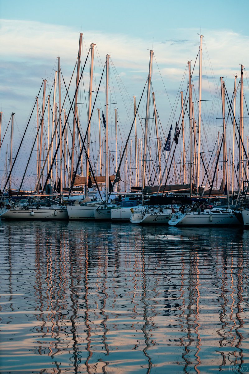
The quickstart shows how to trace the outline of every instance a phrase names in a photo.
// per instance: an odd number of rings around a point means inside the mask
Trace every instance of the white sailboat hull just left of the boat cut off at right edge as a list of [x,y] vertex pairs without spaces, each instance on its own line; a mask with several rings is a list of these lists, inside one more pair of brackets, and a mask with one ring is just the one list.
[[240,225],[240,222],[232,211],[224,211],[224,213],[204,211],[174,213],[168,224],[169,226],[236,226]]

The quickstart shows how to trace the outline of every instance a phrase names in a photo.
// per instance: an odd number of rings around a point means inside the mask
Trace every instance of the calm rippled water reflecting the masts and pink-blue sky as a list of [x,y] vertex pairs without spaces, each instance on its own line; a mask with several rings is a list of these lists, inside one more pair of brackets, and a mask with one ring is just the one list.
[[0,222],[0,373],[248,373],[249,230]]

